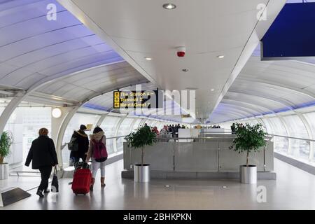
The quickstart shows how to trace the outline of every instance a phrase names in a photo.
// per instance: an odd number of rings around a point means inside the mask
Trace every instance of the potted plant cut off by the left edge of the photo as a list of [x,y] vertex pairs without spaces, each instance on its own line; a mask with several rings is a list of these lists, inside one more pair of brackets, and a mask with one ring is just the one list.
[[10,132],[3,132],[0,139],[0,180],[8,179],[8,163],[3,160],[10,154],[13,137]]

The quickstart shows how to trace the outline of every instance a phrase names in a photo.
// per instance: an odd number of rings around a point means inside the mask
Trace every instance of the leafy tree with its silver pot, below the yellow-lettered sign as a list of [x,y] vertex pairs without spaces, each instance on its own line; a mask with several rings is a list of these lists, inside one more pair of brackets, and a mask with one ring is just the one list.
[[134,181],[150,181],[150,165],[144,164],[144,147],[152,146],[156,142],[156,134],[152,132],[151,127],[145,125],[131,132],[126,139],[128,146],[141,148],[141,164],[134,165]]

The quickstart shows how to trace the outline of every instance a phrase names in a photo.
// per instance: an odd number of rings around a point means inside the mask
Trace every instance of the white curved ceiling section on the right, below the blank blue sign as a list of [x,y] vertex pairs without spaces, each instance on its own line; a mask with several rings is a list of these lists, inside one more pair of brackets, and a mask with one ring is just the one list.
[[315,105],[315,64],[252,56],[211,114],[211,123]]

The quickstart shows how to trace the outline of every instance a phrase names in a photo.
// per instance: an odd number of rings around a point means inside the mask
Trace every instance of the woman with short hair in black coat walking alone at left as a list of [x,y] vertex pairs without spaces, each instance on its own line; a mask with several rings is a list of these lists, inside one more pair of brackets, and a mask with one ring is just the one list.
[[31,143],[25,166],[29,167],[31,163],[32,169],[39,169],[39,172],[41,172],[41,183],[38,186],[36,194],[39,197],[44,197],[43,192],[49,193],[47,189],[48,180],[52,167],[57,168],[58,160],[55,144],[54,141],[48,137],[48,130],[41,128],[38,131],[38,135],[39,137]]

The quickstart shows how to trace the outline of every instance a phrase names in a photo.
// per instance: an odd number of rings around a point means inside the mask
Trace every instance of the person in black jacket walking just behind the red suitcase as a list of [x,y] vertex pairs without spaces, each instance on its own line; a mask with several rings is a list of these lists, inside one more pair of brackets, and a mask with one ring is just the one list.
[[82,161],[85,161],[86,153],[89,150],[89,138],[87,134],[85,134],[86,130],[85,125],[80,125],[80,130],[74,131],[72,134],[72,138],[76,138],[76,142],[78,144],[78,151],[71,151],[70,158],[73,158],[73,162],[79,162],[80,158]]

